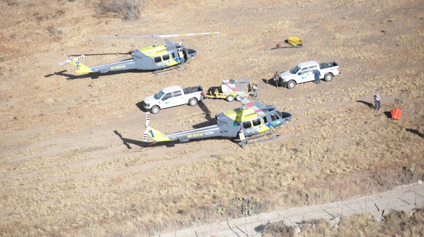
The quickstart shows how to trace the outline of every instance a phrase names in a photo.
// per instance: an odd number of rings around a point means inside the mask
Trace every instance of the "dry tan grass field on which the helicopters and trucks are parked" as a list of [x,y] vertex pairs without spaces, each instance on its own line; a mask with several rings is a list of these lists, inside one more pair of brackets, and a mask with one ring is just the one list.
[[[142,18],[129,22],[98,6],[0,1],[0,235],[160,234],[241,217],[234,198],[242,196],[259,198],[264,212],[424,178],[421,1],[148,0]],[[211,31],[221,33],[184,37],[198,55],[182,73],[95,77],[59,66],[82,54],[87,66],[120,61],[152,43],[91,37]],[[290,36],[304,47],[271,50]],[[292,90],[268,83],[275,71],[310,60],[336,61],[342,74]],[[293,114],[279,139],[246,149],[225,138],[142,142],[145,113],[137,103],[146,96],[229,78],[257,81],[261,102]],[[374,116],[374,93],[383,111],[399,107],[402,118]],[[187,130],[239,106],[199,104],[161,110],[149,125]]]

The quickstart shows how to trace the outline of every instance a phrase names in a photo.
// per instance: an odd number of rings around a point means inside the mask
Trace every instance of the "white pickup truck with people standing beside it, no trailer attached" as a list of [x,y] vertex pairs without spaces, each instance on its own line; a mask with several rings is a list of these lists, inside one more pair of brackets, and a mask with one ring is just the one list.
[[317,61],[309,61],[298,64],[290,71],[280,73],[279,84],[293,89],[296,84],[314,81],[313,70],[315,69],[320,71],[320,79],[327,82],[333,80],[335,75],[340,74],[340,67],[336,62],[318,64]]

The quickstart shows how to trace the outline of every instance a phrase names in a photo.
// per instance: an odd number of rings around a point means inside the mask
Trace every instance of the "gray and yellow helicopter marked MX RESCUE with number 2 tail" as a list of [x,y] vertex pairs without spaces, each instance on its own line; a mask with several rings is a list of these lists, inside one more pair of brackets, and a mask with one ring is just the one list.
[[[165,45],[157,44],[157,38],[165,37],[177,37],[177,36],[196,36],[196,35],[208,35],[208,34],[218,34],[219,32],[206,32],[206,33],[189,33],[189,34],[175,34],[175,35],[162,35],[158,36],[153,34],[152,36],[122,36],[122,37],[101,37],[101,38],[91,38],[91,39],[123,39],[123,38],[152,38],[155,43],[152,46],[147,46],[141,49],[132,50],[131,59],[119,61],[116,63],[107,63],[99,66],[88,67],[80,63],[79,60],[84,58],[84,55],[81,55],[77,58],[71,58],[70,60],[65,60],[60,63],[64,65],[66,63],[72,63],[77,66],[77,73],[91,73],[91,72],[112,72],[112,71],[122,71],[122,70],[131,70],[139,69],[145,71],[154,71],[156,74],[155,77],[165,74],[172,74],[176,72],[183,72],[187,69],[181,69],[181,65],[184,65],[184,62],[188,62],[190,59],[194,58],[197,54],[196,50],[187,49],[180,43],[174,44],[168,39],[165,39]],[[176,72],[169,72],[165,74],[160,74],[169,70],[177,69]]]

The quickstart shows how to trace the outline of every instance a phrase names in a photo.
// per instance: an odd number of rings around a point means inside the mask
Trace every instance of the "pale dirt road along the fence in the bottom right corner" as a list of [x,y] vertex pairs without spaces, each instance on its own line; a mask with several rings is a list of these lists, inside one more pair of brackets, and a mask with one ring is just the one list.
[[391,210],[409,212],[424,203],[424,185],[422,182],[394,187],[386,192],[368,196],[357,196],[345,201],[327,204],[282,209],[275,212],[262,213],[246,218],[225,220],[210,225],[195,226],[173,233],[160,234],[156,237],[173,236],[253,236],[261,234],[266,224],[283,220],[287,225],[298,226],[302,220],[323,218],[337,222],[346,215],[357,215],[366,212],[381,220]]

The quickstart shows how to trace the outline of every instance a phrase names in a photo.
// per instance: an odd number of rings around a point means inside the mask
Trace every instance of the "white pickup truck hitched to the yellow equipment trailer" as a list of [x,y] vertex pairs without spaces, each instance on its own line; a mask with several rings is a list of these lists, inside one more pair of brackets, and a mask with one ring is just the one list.
[[177,105],[197,105],[199,100],[204,99],[203,88],[199,86],[182,88],[180,85],[163,88],[158,94],[144,99],[145,110],[151,113],[159,113],[159,110]]

